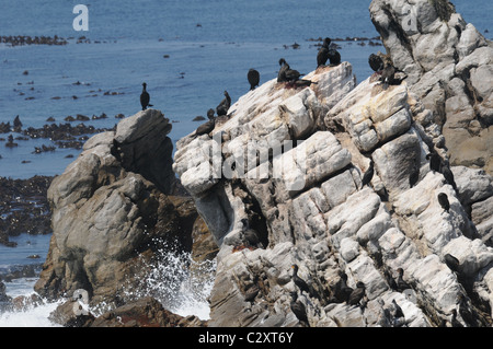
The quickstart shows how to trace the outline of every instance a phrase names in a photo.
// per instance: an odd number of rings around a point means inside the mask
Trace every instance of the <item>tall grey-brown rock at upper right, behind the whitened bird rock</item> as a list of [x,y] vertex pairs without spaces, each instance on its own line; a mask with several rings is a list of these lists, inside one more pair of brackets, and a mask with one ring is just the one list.
[[372,0],[369,10],[387,54],[433,113],[417,120],[442,129],[434,132],[452,165],[493,175],[492,43],[447,0]]

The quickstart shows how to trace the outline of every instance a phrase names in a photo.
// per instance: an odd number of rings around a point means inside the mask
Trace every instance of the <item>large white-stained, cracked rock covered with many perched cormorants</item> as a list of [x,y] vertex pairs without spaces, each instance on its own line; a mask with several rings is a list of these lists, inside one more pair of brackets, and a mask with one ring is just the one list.
[[[450,326],[454,310],[463,325],[491,326],[493,248],[468,209],[491,194],[469,193],[469,173],[455,171],[456,193],[431,171],[437,137],[421,120],[432,112],[405,82],[385,88],[371,77],[356,86],[347,62],[306,79],[318,84],[268,81],[213,132],[177,142],[173,170],[220,246],[209,325],[307,326],[290,310],[297,291],[310,326]],[[362,186],[370,159],[375,175]],[[477,186],[489,185],[478,173]],[[488,210],[480,205],[474,217],[488,223]],[[294,264],[308,292],[294,282]],[[399,268],[405,290],[394,286]],[[343,274],[351,288],[366,286],[360,305],[336,301]]]

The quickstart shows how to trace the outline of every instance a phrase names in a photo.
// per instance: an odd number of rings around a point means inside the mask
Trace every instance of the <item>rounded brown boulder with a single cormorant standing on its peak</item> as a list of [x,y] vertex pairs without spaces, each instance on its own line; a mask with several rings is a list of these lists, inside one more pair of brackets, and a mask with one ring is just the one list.
[[54,178],[53,237],[35,286],[39,294],[55,299],[84,289],[91,302],[121,302],[122,290],[144,271],[140,263],[163,243],[191,251],[193,201],[167,196],[176,181],[170,129],[161,112],[139,112],[115,132],[88,140]]

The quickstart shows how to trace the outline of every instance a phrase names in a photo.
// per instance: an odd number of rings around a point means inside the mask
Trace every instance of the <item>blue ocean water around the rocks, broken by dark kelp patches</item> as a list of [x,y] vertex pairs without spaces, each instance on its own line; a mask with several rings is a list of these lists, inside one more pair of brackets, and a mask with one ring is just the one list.
[[[77,15],[72,9],[78,3],[89,9],[87,32],[72,27]],[[19,115],[24,129],[39,128],[47,124],[48,117],[59,124],[69,115],[91,117],[104,113],[106,119],[84,124],[111,128],[118,121],[115,115],[139,112],[141,83],[147,82],[151,104],[172,121],[169,136],[175,142],[200,124],[193,118],[205,116],[208,108],[215,107],[222,100],[222,91],[227,90],[233,102],[246,93],[250,68],[261,72],[261,83],[276,77],[282,57],[293,68],[308,73],[316,69],[318,50],[311,38],[378,36],[369,19],[369,0],[0,0],[0,36],[57,35],[68,40],[64,46],[0,44],[0,123],[12,124]],[[492,38],[491,0],[454,3],[467,22]],[[78,44],[81,36],[90,42]],[[291,46],[295,43],[299,48]],[[369,54],[383,50],[382,46],[370,46],[368,39],[337,44],[343,60],[353,65],[358,82],[371,73],[367,63]],[[8,133],[0,135],[7,137]],[[0,176],[4,177],[61,174],[73,161],[67,155],[80,153],[59,148],[33,153],[35,147],[51,146],[49,139],[16,140],[19,146],[12,149],[0,140]],[[1,268],[46,258],[49,236],[21,235],[19,243],[11,249],[0,246]],[[39,254],[41,259],[28,259],[26,254]],[[24,279],[5,284],[9,294],[19,295],[32,292],[34,283]],[[190,289],[183,287],[185,291]],[[161,290],[160,294],[164,293]],[[183,313],[188,315],[193,309],[200,309],[195,300],[180,301],[175,311],[187,309]],[[2,314],[0,326],[49,326],[46,315],[50,306],[36,313]]]

